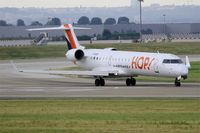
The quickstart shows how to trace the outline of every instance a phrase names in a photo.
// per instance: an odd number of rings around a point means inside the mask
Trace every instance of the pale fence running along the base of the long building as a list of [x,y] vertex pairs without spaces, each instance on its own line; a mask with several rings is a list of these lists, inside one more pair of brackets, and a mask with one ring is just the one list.
[[[148,42],[200,42],[200,34],[144,34],[142,39]],[[30,46],[33,40],[0,40],[0,47]],[[117,43],[133,43],[133,40],[96,40],[96,41],[80,41],[81,44],[117,44]],[[64,45],[65,41],[48,41],[47,45]]]

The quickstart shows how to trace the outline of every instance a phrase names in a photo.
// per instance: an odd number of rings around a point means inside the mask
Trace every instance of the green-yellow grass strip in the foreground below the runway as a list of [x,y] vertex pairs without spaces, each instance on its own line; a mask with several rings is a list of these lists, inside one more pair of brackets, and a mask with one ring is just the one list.
[[199,133],[199,99],[1,100],[0,132]]

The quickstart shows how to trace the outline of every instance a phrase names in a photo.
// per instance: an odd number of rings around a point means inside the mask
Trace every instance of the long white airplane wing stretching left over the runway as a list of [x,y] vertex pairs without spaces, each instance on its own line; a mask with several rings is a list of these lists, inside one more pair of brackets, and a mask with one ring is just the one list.
[[23,73],[38,73],[52,75],[78,75],[78,76],[117,76],[118,71],[45,71],[45,70],[21,70]]

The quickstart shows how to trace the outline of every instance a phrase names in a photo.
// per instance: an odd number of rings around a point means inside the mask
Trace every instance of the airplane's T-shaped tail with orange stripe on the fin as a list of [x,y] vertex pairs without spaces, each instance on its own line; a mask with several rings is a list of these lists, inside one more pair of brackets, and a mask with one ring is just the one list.
[[67,42],[68,49],[84,49],[78,42],[78,39],[75,35],[74,30],[84,30],[90,28],[83,27],[73,27],[71,24],[64,24],[60,27],[51,27],[51,28],[35,28],[35,29],[27,29],[28,31],[47,31],[47,30],[64,30],[65,40]]

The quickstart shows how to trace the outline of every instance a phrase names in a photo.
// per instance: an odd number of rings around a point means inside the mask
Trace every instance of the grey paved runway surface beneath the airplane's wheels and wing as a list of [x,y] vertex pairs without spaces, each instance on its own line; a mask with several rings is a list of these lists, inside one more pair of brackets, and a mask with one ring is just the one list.
[[[73,66],[64,58],[14,61],[18,69],[44,70]],[[94,79],[45,74],[19,73],[9,61],[0,61],[0,98],[54,97],[200,97],[199,83],[138,82],[127,87],[125,81],[108,81],[95,87]]]

